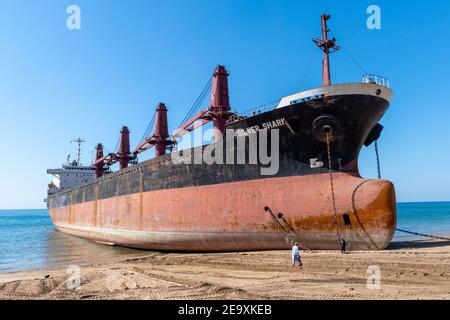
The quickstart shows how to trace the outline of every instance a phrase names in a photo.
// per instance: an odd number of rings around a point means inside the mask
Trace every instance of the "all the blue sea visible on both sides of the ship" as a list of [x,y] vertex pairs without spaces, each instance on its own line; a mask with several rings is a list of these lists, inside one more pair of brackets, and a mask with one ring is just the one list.
[[[397,203],[397,228],[449,236],[450,201]],[[397,231],[392,242],[423,239]],[[58,232],[47,209],[0,209],[0,273],[118,261],[147,252]]]

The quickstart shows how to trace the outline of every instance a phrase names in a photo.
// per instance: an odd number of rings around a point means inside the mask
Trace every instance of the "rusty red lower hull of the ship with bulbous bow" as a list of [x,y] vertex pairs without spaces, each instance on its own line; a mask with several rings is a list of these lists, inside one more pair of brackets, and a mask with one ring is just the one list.
[[337,249],[338,232],[352,250],[385,248],[396,226],[392,184],[348,174],[334,179],[337,219],[327,174],[144,192],[50,213],[60,231],[152,250],[286,249],[289,238]]

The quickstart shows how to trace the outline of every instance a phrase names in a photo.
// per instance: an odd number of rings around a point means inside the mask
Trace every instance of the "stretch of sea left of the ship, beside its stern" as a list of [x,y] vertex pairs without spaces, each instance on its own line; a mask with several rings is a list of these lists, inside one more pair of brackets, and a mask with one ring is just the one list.
[[58,232],[47,210],[0,210],[0,272],[67,268],[146,253]]

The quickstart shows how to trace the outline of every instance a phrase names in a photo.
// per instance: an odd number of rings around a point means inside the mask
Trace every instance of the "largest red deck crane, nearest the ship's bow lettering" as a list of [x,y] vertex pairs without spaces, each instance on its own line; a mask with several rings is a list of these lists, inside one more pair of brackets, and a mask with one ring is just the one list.
[[[222,139],[225,131],[225,123],[232,115],[230,108],[230,96],[228,93],[228,72],[224,66],[217,66],[213,75],[211,100],[209,107],[203,109],[186,123],[178,128],[173,136],[181,137],[208,122],[213,121],[214,139]],[[199,122],[197,122],[199,121]]]

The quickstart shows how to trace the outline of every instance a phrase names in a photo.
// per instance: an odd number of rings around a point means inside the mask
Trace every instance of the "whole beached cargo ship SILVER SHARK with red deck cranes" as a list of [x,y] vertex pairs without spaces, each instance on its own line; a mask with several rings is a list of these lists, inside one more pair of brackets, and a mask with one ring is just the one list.
[[[394,186],[362,178],[358,156],[380,137],[393,93],[374,75],[331,83],[330,54],[339,46],[328,38],[329,19],[321,16],[322,36],[314,39],[323,53],[321,87],[237,114],[229,74],[217,66],[209,106],[197,114],[191,108],[172,135],[159,103],[151,134],[134,150],[123,127],[116,150],[106,154],[98,144],[92,165],[82,166],[78,156],[49,170],[56,180],[46,202],[56,229],[160,251],[278,250],[293,242],[334,250],[341,239],[351,250],[384,249],[396,227]],[[212,143],[184,150],[177,144],[210,122]],[[150,148],[155,157],[139,162]],[[116,163],[120,170],[112,172]]]

